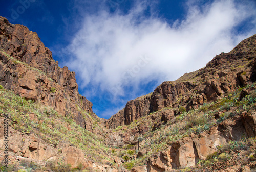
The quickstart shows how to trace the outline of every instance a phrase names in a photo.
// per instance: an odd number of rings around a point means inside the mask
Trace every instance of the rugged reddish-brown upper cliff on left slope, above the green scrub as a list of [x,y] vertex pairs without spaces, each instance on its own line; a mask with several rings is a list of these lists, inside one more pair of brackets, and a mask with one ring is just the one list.
[[75,72],[58,67],[52,52],[35,32],[0,17],[0,85],[16,94],[54,107],[92,130],[92,103],[78,93]]

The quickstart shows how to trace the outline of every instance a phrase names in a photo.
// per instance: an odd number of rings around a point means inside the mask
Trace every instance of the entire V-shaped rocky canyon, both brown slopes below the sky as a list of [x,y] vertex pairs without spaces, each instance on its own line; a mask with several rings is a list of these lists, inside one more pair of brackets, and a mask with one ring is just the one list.
[[0,27],[1,171],[255,170],[256,35],[104,121],[35,32]]

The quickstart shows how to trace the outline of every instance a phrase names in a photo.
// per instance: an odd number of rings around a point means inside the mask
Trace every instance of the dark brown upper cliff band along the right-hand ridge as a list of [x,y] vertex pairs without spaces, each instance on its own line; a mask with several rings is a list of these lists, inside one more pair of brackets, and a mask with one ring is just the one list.
[[106,127],[129,125],[165,107],[183,106],[188,111],[216,101],[238,86],[255,82],[255,44],[256,35],[239,43],[231,52],[217,55],[206,67],[186,73],[176,81],[163,82],[152,94],[127,102],[123,110],[105,122]]

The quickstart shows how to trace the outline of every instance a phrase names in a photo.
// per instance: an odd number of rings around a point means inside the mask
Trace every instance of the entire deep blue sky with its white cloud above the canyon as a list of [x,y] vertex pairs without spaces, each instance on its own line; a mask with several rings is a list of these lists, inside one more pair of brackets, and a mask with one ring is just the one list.
[[256,34],[255,9],[254,0],[1,0],[0,15],[37,32],[108,119]]

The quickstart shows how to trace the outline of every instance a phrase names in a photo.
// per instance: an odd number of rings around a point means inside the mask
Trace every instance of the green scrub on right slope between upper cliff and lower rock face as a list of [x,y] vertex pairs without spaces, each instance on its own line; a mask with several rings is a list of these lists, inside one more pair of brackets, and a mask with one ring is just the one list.
[[[150,130],[145,135],[139,136],[142,141],[142,138],[145,139],[145,143],[142,145],[142,149],[145,148],[147,150],[151,150],[148,152],[148,155],[154,155],[155,152],[164,151],[167,149],[168,145],[171,145],[175,141],[188,137],[189,134],[195,133],[199,134],[203,131],[209,130],[215,124],[224,121],[227,118],[232,118],[238,114],[241,114],[245,110],[250,110],[251,108],[255,107],[256,100],[254,99],[254,95],[248,95],[244,99],[239,100],[240,92],[242,89],[246,88],[249,89],[254,87],[254,84],[247,85],[245,87],[239,87],[236,91],[229,93],[227,97],[218,100],[217,102],[210,102],[204,103],[197,109],[189,110],[188,112],[185,111],[184,107],[180,107],[178,110],[182,112],[180,115],[176,116],[175,123],[170,121],[167,124],[162,124],[160,128],[156,130]],[[235,108],[236,110],[232,110],[229,112],[231,108]],[[166,110],[169,108],[166,108]],[[217,120],[215,119],[215,114],[220,111],[227,111],[220,115],[220,118]],[[154,112],[152,114],[162,114],[163,110],[159,112]],[[156,115],[158,116],[158,115]],[[141,118],[141,120],[151,120],[147,119],[146,117]],[[159,121],[160,119],[155,119],[155,121]],[[138,122],[140,119],[138,120]],[[134,127],[136,124],[132,124]],[[172,127],[168,127],[172,125]],[[130,126],[127,126],[129,128]],[[138,140],[137,138],[137,140]],[[225,151],[226,147],[228,149],[233,150],[241,150],[246,148],[245,143],[243,141],[234,141],[229,142],[228,145],[223,145],[221,147],[221,151]],[[143,157],[134,161],[136,165],[141,165],[146,163],[148,155],[143,155]],[[219,154],[218,154],[219,155]],[[211,156],[211,157],[210,157]],[[213,160],[211,160],[214,158]],[[209,155],[207,161],[203,161],[204,164],[211,165],[214,162],[217,162],[224,158],[223,155],[218,158],[217,153]]]

